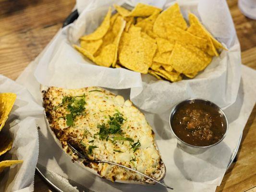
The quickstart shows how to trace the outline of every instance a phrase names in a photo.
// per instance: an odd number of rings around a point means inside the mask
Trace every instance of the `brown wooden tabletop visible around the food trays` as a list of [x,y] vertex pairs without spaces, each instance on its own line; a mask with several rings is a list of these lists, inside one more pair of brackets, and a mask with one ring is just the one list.
[[[0,0],[0,74],[15,80],[34,60],[72,11],[75,0]],[[228,0],[242,62],[256,69],[256,21],[246,18],[236,0]],[[252,81],[256,81],[253,79]],[[256,107],[247,121],[242,144],[217,192],[256,192]],[[53,189],[37,174],[35,191]]]

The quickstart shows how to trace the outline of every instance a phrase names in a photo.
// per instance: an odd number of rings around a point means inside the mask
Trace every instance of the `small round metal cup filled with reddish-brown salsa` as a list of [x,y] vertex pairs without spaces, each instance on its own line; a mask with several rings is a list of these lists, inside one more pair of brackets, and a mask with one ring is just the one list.
[[172,108],[171,132],[184,151],[197,154],[219,144],[226,136],[228,120],[216,104],[205,99],[187,99]]

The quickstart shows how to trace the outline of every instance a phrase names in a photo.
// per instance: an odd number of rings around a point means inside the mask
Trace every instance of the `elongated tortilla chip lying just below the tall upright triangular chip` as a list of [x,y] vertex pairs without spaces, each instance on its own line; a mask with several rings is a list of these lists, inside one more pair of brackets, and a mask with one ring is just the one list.
[[184,31],[183,29],[176,27],[175,25],[168,23],[158,28],[154,28],[154,33],[159,37],[169,39],[172,41],[179,41],[183,44],[193,45],[198,48],[205,49],[207,47],[207,40],[194,36],[193,34]]

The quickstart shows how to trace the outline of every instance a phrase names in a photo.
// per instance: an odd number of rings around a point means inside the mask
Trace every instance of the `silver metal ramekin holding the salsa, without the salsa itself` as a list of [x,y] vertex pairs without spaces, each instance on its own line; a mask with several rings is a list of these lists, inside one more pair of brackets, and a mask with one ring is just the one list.
[[[183,106],[183,104],[185,103],[192,103],[192,102],[203,102],[211,107],[214,107],[216,108],[219,113],[222,115],[222,118],[223,120],[225,121],[226,123],[226,132],[225,134],[223,135],[223,137],[215,144],[211,144],[211,145],[207,145],[207,146],[195,146],[195,145],[192,145],[192,144],[187,144],[186,142],[184,142],[183,140],[181,140],[172,130],[172,127],[171,127],[171,121],[172,121],[172,118],[173,118],[173,115],[175,114],[175,112],[177,111],[178,108],[180,108],[181,106]],[[201,154],[203,152],[205,152],[208,148],[212,147],[212,146],[215,146],[217,144],[219,144],[226,136],[227,134],[227,131],[228,131],[228,120],[227,120],[227,117],[225,115],[225,113],[222,111],[221,108],[219,108],[216,104],[212,103],[211,101],[208,101],[206,99],[199,99],[199,98],[190,98],[190,99],[186,99],[180,103],[178,103],[177,105],[175,105],[172,109],[171,109],[171,113],[170,113],[170,117],[169,117],[169,125],[170,125],[170,128],[171,128],[171,132],[172,134],[177,138],[178,142],[177,142],[177,145],[179,148],[183,149],[183,151],[187,152],[187,153],[190,153],[190,154]]]

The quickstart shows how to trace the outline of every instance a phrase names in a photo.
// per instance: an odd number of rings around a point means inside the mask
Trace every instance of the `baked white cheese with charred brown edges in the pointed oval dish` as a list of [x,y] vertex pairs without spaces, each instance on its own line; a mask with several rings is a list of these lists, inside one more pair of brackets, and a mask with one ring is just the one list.
[[[57,87],[41,86],[43,106],[51,131],[61,142],[64,151],[79,161],[92,173],[117,182],[155,184],[140,174],[118,166],[106,163],[94,163],[79,159],[67,142],[79,146],[91,159],[108,160],[134,168],[156,180],[165,176],[165,166],[161,160],[157,145],[154,141],[154,132],[147,123],[145,115],[135,108],[130,100],[116,96],[99,87],[81,89],[63,89]],[[73,125],[67,125],[65,118],[70,111],[62,105],[63,97],[84,96],[85,105],[82,114],[73,118]],[[79,96],[79,97],[76,97]],[[107,139],[99,138],[98,125],[109,128],[110,118],[121,114],[124,119],[121,132],[108,134]],[[115,140],[116,138],[129,138],[128,140]],[[139,143],[139,144],[138,144]],[[134,151],[134,144],[138,144]],[[94,146],[88,149],[89,146]]]

